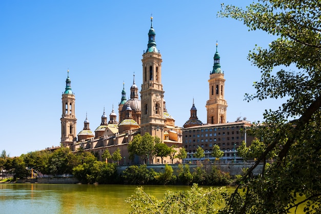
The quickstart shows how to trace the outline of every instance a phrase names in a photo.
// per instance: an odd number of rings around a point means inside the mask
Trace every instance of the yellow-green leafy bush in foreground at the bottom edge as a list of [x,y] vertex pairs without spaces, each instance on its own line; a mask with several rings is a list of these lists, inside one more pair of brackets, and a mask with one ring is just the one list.
[[137,187],[132,196],[126,199],[131,203],[130,213],[171,213],[171,214],[209,214],[216,213],[227,197],[227,190],[220,188],[200,188],[196,184],[190,190],[166,191],[162,200],[146,193],[143,187]]

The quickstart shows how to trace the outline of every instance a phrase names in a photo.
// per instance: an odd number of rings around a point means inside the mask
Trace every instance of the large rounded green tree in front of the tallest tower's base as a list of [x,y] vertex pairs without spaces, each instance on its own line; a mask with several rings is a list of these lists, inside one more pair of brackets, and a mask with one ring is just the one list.
[[145,164],[146,159],[153,159],[154,156],[154,144],[159,142],[159,138],[154,138],[150,133],[146,132],[144,136],[137,134],[133,137],[127,145],[129,158],[134,159],[135,154],[140,157]]

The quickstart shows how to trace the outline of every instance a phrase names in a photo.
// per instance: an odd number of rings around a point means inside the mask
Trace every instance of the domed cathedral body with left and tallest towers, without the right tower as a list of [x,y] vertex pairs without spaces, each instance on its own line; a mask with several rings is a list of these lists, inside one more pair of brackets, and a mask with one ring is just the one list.
[[[127,144],[136,134],[144,135],[148,132],[152,136],[157,136],[161,142],[169,147],[174,145],[177,150],[182,147],[183,129],[175,126],[175,120],[166,109],[165,91],[162,84],[162,55],[156,48],[155,35],[151,17],[148,45],[142,59],[141,100],[139,100],[139,89],[135,84],[134,75],[129,100],[126,99],[125,85],[123,84],[122,98],[118,105],[118,121],[114,107],[109,114],[109,121],[104,109],[102,122],[94,132],[89,127],[86,115],[83,130],[78,134],[76,133],[75,95],[71,89],[68,71],[66,88],[62,95],[61,144],[64,147],[69,147],[71,151],[82,148],[85,151],[97,153],[99,157],[106,149],[112,153],[119,148],[124,158],[121,164],[131,163]],[[156,164],[160,162],[157,157],[148,161]],[[164,161],[169,163],[169,158]],[[174,159],[174,162],[177,161]]]

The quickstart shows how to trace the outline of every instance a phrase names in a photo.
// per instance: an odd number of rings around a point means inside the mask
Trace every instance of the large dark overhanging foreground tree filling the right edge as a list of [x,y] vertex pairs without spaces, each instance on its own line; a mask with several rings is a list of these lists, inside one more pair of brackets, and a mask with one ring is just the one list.
[[[321,211],[321,183],[316,182],[321,180],[320,6],[319,1],[286,0],[261,0],[246,9],[222,5],[219,16],[278,37],[268,48],[257,46],[249,53],[262,76],[254,82],[256,93],[245,94],[245,100],[283,98],[284,103],[266,110],[265,121],[247,130],[264,149],[220,213],[287,213],[299,204],[306,213]],[[253,178],[254,168],[274,152],[275,162]],[[238,193],[240,188],[245,194]]]

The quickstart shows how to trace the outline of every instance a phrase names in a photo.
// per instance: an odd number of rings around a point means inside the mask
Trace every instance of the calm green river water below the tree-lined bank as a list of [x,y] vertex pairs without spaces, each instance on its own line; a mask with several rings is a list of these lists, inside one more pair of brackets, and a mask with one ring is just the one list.
[[[0,184],[0,213],[129,213],[130,204],[125,199],[135,188],[136,185]],[[166,190],[189,188],[144,186],[146,192],[159,199]]]

